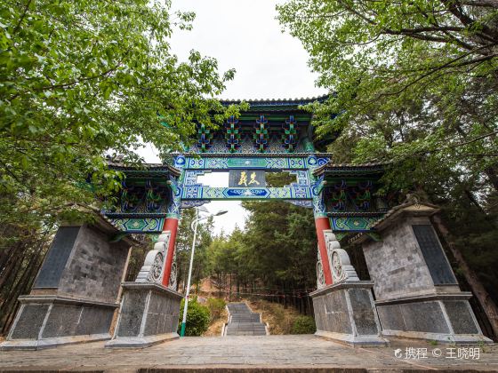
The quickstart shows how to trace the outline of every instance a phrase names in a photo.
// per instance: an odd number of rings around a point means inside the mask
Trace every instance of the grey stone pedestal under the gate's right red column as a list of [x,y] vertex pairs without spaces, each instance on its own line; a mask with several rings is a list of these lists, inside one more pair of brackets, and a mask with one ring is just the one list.
[[388,345],[381,337],[373,286],[373,282],[348,281],[312,292],[315,335],[353,346]]

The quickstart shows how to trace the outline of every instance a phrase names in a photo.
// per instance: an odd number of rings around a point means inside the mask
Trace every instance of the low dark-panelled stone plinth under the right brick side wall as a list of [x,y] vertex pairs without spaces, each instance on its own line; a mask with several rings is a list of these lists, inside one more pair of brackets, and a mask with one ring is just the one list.
[[469,292],[378,300],[382,334],[442,343],[493,343],[483,336]]

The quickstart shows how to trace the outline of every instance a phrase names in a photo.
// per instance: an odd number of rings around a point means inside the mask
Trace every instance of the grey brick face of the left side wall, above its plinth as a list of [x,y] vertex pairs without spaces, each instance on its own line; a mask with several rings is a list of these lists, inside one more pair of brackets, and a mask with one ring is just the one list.
[[128,256],[124,242],[108,242],[98,229],[84,225],[59,282],[60,295],[116,302]]

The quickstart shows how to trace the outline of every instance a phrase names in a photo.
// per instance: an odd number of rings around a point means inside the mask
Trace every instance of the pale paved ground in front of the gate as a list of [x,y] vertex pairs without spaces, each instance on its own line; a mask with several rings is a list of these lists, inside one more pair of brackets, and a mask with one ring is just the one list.
[[[306,336],[183,337],[161,345],[136,350],[108,350],[103,342],[68,345],[42,351],[0,352],[0,371],[118,371],[169,372],[191,369],[224,372],[426,372],[443,369],[497,371],[498,347],[481,347],[479,360],[447,359],[447,345],[392,342],[390,347],[352,348],[325,339]],[[427,359],[405,359],[406,347],[428,348]],[[399,348],[402,357],[394,356]],[[431,355],[442,350],[441,357]],[[460,347],[462,348],[462,347]],[[482,351],[482,348],[485,351]]]

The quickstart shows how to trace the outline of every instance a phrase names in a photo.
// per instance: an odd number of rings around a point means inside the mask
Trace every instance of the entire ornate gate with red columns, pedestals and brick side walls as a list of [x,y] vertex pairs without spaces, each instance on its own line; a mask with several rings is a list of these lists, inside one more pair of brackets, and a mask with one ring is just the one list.
[[[195,145],[171,155],[167,164],[138,169],[109,163],[125,175],[119,203],[102,211],[106,218],[60,226],[0,348],[111,337],[108,347],[145,347],[178,337],[182,295],[176,291],[174,247],[181,209],[247,199],[313,209],[318,289],[309,295],[317,335],[352,345],[385,344],[383,336],[390,335],[490,342],[432,227],[430,217],[438,208],[406,202],[388,212],[376,194],[382,164],[334,164],[320,151],[333,138],[318,140],[312,115],[300,108],[313,100],[250,101],[249,110],[229,118],[220,130],[200,123]],[[228,187],[205,186],[197,179],[218,171],[229,171]],[[269,187],[269,171],[288,172],[295,180]],[[341,249],[339,241],[351,232],[373,281],[360,281]],[[134,282],[121,282],[133,245],[127,234],[158,235]]]

